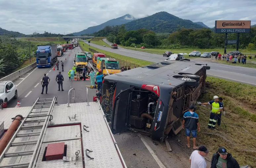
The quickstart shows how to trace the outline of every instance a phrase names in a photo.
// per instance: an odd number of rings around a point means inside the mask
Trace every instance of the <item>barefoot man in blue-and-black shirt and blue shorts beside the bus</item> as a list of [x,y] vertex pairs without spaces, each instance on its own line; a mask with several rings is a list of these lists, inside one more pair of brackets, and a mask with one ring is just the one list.
[[182,128],[185,128],[186,124],[186,136],[187,136],[187,147],[190,148],[190,134],[193,136],[193,149],[198,149],[195,146],[196,130],[200,131],[200,125],[198,122],[198,115],[194,112],[194,106],[189,106],[189,111],[185,112],[183,115]]

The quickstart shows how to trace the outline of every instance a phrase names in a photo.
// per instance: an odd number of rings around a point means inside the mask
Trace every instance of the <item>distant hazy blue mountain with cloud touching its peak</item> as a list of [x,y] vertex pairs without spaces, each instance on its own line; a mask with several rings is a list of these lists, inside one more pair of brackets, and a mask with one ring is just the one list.
[[91,33],[94,33],[94,32],[97,32],[97,31],[103,29],[106,26],[121,25],[121,24],[125,24],[129,21],[133,21],[133,20],[135,20],[135,18],[133,16],[131,16],[130,14],[126,14],[122,17],[109,20],[109,21],[102,23],[100,25],[97,25],[97,26],[88,27],[85,30],[82,30],[82,31],[79,31],[79,32],[76,32],[73,34],[75,36],[80,36],[81,34],[91,34]]

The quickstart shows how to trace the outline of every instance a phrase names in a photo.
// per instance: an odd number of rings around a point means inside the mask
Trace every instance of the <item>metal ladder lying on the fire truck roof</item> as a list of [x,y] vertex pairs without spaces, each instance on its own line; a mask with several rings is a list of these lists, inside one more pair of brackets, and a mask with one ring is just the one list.
[[[50,99],[37,98],[27,117],[24,117],[24,119],[21,121],[17,131],[14,133],[12,139],[1,154],[0,168],[35,167],[43,138],[45,136],[46,128],[52,119],[51,113],[53,111],[53,107],[57,103],[57,96]],[[36,131],[33,132],[34,129]],[[17,147],[15,148],[15,152],[13,152],[13,149],[9,152],[9,150],[13,147]],[[26,148],[29,148],[29,150]],[[30,157],[30,155],[32,156]]]

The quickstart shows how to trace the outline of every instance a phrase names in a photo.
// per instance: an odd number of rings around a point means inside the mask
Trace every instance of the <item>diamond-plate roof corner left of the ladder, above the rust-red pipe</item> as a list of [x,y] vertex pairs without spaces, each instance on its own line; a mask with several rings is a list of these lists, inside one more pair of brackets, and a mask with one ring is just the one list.
[[4,108],[0,110],[0,121],[4,121],[4,129],[8,129],[12,124],[12,119],[18,114],[21,114],[23,117],[26,117],[31,107],[14,107],[14,108]]

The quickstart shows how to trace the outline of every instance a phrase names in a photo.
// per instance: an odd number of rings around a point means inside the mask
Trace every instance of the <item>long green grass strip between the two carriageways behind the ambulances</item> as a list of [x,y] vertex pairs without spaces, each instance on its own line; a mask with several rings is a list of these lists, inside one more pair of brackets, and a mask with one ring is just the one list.
[[[95,47],[92,47],[86,43],[84,43],[83,41],[79,41],[78,42],[80,47],[82,47],[83,49],[85,50],[88,50],[89,51],[89,48],[91,49],[94,49],[100,53],[104,53],[108,56],[110,56],[111,58],[114,58],[116,60],[120,60],[119,61],[119,64],[120,65],[123,65],[123,66],[126,66],[126,62],[127,62],[127,66],[133,66],[134,64],[138,67],[139,66],[145,66],[145,65],[149,65],[149,64],[152,64],[152,62],[149,62],[149,61],[144,61],[144,60],[139,60],[139,59],[136,59],[136,58],[131,58],[131,57],[126,57],[126,56],[123,56],[123,55],[120,55],[120,54],[115,54],[115,53],[111,53],[111,52],[108,52],[108,51],[105,51],[105,50],[100,50],[98,48],[95,48]],[[84,44],[84,46],[83,46]],[[125,63],[123,63],[125,62]]]

